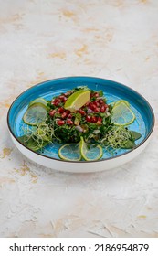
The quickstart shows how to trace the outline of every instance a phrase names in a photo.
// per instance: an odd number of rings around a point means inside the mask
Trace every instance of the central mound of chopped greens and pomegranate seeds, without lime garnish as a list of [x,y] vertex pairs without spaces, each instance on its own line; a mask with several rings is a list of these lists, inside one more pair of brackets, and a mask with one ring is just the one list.
[[54,123],[56,136],[61,143],[78,143],[80,136],[87,143],[97,142],[100,134],[104,133],[103,130],[111,124],[111,106],[102,97],[102,91],[85,91],[90,98],[79,110],[65,109],[68,96],[78,90],[77,88],[61,94],[49,103],[50,112],[47,122]]

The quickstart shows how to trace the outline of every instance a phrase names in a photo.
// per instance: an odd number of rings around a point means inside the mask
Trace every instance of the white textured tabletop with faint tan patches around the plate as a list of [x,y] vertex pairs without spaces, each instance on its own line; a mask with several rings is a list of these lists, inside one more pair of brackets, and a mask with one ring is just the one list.
[[158,123],[134,161],[97,174],[36,165],[12,144],[11,102],[88,75],[139,91],[158,114],[157,0],[0,0],[0,237],[158,237]]

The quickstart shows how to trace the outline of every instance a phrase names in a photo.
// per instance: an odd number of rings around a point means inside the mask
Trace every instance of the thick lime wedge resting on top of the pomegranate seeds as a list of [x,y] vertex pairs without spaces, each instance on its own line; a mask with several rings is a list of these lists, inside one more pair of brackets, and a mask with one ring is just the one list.
[[90,101],[90,90],[79,90],[68,97],[64,108],[70,112],[76,112],[88,101]]

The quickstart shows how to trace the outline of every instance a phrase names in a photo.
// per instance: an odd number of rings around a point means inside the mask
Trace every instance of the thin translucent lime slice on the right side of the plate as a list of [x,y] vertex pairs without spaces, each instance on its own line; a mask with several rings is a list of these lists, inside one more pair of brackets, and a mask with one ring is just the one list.
[[111,122],[115,125],[128,125],[131,124],[135,115],[129,107],[127,101],[120,101],[114,104],[111,112]]

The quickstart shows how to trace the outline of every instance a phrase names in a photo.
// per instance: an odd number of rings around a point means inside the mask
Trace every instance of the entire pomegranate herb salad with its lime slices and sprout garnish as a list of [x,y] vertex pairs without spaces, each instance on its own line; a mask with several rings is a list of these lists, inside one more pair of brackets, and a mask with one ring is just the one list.
[[[140,133],[129,130],[135,115],[128,101],[107,103],[102,91],[83,86],[53,97],[29,102],[23,116],[27,124],[19,141],[33,151],[61,144],[63,160],[99,160],[103,148],[132,149]],[[69,151],[73,154],[69,156]]]

